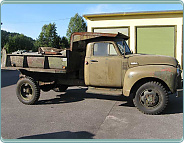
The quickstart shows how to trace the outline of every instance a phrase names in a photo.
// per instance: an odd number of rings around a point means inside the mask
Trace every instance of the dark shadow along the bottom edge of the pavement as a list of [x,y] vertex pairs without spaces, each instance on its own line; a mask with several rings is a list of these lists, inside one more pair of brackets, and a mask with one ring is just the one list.
[[94,134],[86,131],[80,132],[63,131],[56,133],[25,136],[18,139],[93,139],[93,136]]

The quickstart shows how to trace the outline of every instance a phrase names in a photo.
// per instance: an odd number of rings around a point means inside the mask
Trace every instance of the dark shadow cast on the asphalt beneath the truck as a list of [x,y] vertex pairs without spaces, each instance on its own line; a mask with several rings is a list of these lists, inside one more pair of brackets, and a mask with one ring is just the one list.
[[[134,107],[132,100],[122,95],[106,95],[106,94],[94,94],[86,93],[86,89],[69,89],[65,93],[61,93],[53,99],[40,100],[37,105],[45,104],[62,104],[79,102],[85,99],[100,99],[100,100],[112,100],[112,101],[122,101],[119,106]],[[123,107],[122,107],[123,108]],[[183,113],[183,96],[176,97],[176,95],[169,96],[169,103],[162,114],[176,114]]]

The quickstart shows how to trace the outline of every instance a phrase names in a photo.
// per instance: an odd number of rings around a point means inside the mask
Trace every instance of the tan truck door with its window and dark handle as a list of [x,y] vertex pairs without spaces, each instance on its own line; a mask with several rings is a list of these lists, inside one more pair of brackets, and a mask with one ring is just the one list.
[[[87,58],[88,84],[91,86],[121,87],[122,56],[117,54],[111,42],[97,42],[91,45],[91,56]],[[85,73],[87,74],[87,73]],[[86,75],[85,75],[86,77]]]

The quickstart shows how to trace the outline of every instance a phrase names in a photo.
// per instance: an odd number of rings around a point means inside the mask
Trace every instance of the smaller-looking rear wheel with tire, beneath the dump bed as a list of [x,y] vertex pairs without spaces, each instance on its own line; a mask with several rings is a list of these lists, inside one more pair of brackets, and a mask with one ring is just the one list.
[[40,97],[40,88],[32,78],[26,77],[17,82],[16,94],[20,102],[32,105]]

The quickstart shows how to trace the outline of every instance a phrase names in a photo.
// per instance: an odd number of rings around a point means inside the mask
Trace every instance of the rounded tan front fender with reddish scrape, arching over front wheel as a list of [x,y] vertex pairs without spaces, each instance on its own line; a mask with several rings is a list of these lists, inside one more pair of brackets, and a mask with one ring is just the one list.
[[143,78],[157,78],[165,82],[171,92],[175,92],[175,81],[177,71],[173,66],[168,65],[146,65],[130,68],[125,73],[123,94],[130,95],[133,85]]

